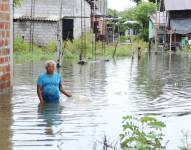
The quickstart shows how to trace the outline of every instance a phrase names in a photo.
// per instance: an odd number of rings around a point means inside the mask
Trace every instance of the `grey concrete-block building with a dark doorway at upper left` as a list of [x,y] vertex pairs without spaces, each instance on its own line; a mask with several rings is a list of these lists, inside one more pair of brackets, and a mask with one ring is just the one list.
[[61,0],[23,0],[20,7],[14,8],[14,37],[46,45],[56,41],[60,19],[62,39],[78,38],[81,29],[90,30],[91,27],[90,1],[62,0],[61,9]]

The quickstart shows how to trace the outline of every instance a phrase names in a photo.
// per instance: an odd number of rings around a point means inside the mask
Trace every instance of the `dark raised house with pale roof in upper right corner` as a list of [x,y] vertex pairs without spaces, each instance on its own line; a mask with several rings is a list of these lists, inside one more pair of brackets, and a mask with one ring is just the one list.
[[191,34],[191,1],[190,0],[164,0],[164,8],[167,15],[167,30],[170,39],[176,45],[183,46],[185,38],[189,38]]

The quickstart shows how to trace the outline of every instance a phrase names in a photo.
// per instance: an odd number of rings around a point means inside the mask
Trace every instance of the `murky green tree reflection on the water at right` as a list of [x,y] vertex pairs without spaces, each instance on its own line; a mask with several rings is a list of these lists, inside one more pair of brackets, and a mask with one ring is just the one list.
[[153,54],[152,57],[145,55],[137,65],[136,85],[137,91],[152,100],[160,96],[164,83],[162,82],[162,71],[165,71],[162,55]]

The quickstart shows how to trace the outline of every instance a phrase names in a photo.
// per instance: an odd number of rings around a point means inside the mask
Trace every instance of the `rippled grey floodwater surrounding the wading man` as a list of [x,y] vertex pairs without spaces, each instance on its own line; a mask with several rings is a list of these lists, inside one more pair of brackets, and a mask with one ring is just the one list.
[[181,145],[182,130],[191,132],[189,55],[65,62],[60,72],[73,98],[40,107],[36,79],[43,71],[43,63],[14,66],[13,92],[0,97],[1,150],[92,150],[104,135],[118,141],[124,115],[164,121],[169,150]]

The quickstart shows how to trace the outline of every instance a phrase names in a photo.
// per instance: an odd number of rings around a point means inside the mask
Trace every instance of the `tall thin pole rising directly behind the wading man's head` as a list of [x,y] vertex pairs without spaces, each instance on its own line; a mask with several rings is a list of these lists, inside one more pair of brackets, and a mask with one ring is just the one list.
[[57,23],[57,67],[62,65],[62,9],[63,9],[63,0],[60,0],[60,15]]

